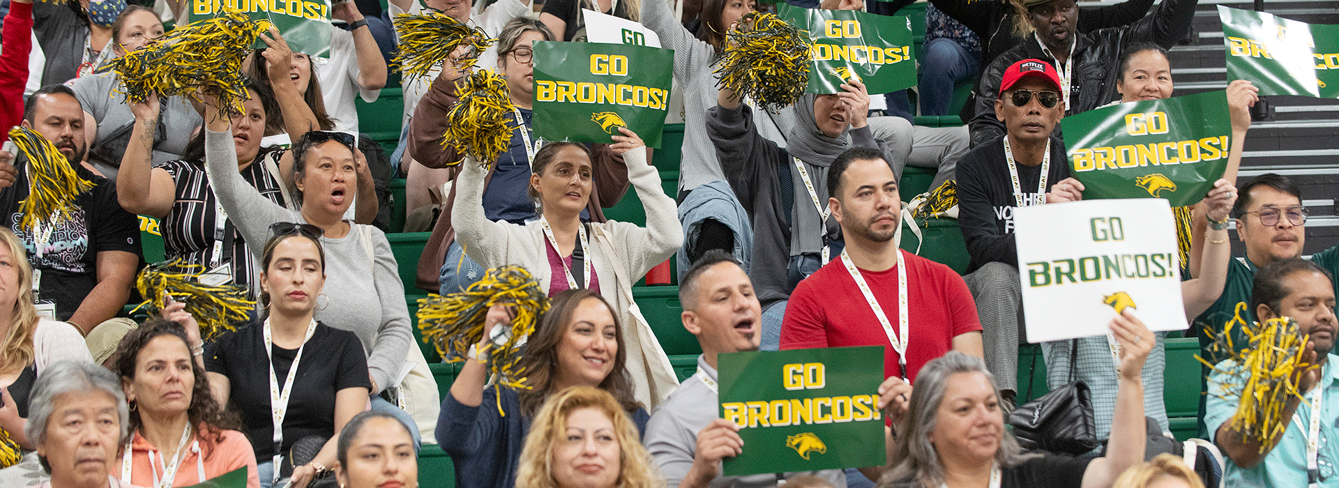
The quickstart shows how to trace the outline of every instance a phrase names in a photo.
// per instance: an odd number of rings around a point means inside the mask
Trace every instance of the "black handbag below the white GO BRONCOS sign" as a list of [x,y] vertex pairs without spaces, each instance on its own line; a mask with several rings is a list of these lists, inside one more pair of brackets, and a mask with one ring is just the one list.
[[[1078,340],[1070,342],[1070,382],[1019,405],[1008,416],[1014,437],[1024,449],[1040,449],[1069,455],[1083,455],[1098,445],[1097,420],[1093,417],[1093,398],[1087,384],[1074,380],[1078,362]],[[1036,356],[1032,356],[1036,366]],[[1031,385],[1028,386],[1031,396]]]

